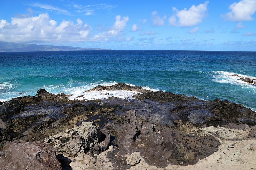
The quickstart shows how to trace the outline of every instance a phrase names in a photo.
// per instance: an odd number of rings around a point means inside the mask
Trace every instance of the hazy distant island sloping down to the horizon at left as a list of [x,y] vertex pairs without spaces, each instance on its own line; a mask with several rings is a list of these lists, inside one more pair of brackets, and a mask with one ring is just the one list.
[[51,45],[36,45],[36,44],[0,41],[0,52],[89,51],[89,50],[110,50],[110,49],[81,48],[81,47],[69,47],[69,46],[51,46]]

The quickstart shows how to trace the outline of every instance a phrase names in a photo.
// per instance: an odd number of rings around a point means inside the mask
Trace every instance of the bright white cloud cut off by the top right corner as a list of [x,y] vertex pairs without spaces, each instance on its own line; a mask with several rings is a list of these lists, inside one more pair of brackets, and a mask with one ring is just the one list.
[[252,21],[252,15],[256,11],[256,0],[241,0],[229,6],[231,12],[220,17],[227,21]]

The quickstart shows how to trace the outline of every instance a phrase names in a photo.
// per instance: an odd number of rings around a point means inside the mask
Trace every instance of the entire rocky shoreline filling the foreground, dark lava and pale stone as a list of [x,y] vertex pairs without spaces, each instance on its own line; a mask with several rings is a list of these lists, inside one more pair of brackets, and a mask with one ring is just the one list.
[[1,102],[0,169],[256,166],[256,112],[243,105],[124,83],[89,92],[101,90],[139,93],[129,100],[88,101],[40,89],[35,96]]

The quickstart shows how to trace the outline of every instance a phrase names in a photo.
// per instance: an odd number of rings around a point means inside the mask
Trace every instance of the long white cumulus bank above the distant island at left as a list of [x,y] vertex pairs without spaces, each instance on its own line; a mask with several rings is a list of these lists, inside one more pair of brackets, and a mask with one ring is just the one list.
[[30,17],[20,14],[11,23],[1,20],[0,39],[12,42],[75,42],[84,41],[91,27],[77,19],[77,24],[63,20],[57,25],[47,13]]

